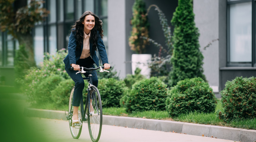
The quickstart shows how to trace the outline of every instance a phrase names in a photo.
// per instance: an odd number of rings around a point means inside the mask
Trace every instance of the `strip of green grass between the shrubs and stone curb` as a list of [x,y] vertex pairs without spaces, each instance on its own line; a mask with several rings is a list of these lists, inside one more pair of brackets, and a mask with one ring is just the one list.
[[[56,106],[55,104],[44,104],[40,106],[31,106],[38,109],[50,109],[50,110],[67,110],[68,106]],[[180,122],[190,122],[206,125],[216,125],[216,126],[225,126],[233,128],[243,128],[243,129],[253,129],[256,130],[256,118],[249,120],[233,120],[232,122],[224,122],[220,120],[217,116],[216,111],[221,109],[221,102],[218,101],[215,112],[206,114],[206,113],[189,113],[182,114],[178,117],[170,117],[167,111],[142,111],[135,113],[126,113],[125,108],[119,107],[110,107],[103,108],[103,115],[113,115],[113,116],[126,116],[126,117],[137,117],[137,118],[148,118],[148,119],[159,119],[159,120],[171,120],[171,121],[180,121]]]

